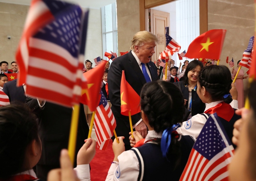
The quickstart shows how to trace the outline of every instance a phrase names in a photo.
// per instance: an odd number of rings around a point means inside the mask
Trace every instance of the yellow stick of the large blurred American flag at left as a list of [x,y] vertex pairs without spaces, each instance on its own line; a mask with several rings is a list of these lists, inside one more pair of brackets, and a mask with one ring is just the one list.
[[80,111],[79,107],[80,105],[74,105],[74,109],[71,117],[71,126],[70,126],[69,141],[68,141],[68,154],[69,154],[72,165],[74,164],[74,158],[75,158],[77,126],[78,126],[78,118],[79,118],[79,111]]

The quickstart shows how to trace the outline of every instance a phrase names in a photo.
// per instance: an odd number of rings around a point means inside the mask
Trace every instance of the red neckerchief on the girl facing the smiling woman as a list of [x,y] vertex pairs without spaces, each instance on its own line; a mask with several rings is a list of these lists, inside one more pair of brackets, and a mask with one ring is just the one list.
[[228,122],[231,120],[231,118],[234,115],[234,109],[229,104],[227,104],[225,102],[221,102],[221,103],[217,104],[216,106],[209,108],[204,113],[213,114],[215,112],[217,113],[217,115],[219,117],[225,119]]

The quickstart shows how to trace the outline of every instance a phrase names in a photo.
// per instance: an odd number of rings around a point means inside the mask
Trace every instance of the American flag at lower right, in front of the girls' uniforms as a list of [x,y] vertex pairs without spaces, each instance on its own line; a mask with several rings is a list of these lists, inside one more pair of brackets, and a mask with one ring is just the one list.
[[183,180],[228,180],[227,166],[234,148],[216,113],[211,114],[199,134],[182,173]]

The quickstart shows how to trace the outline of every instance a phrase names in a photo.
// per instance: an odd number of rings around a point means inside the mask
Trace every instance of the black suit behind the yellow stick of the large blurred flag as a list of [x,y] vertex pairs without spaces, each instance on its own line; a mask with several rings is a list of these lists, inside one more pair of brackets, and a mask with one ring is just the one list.
[[[71,124],[72,108],[46,102],[40,109],[36,99],[27,98],[27,106],[39,118],[39,137],[42,141],[42,156],[38,162],[41,165],[59,165],[61,149],[67,148]],[[89,127],[86,123],[84,107],[80,104],[79,124],[75,152],[84,144]]]

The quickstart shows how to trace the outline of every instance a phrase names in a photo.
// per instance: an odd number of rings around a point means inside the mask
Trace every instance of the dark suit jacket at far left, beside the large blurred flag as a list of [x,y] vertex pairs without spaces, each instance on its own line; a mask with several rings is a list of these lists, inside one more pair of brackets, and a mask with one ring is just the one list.
[[13,103],[14,101],[19,101],[22,103],[26,102],[26,96],[24,94],[24,88],[23,86],[16,87],[17,79],[6,82],[3,85],[3,92],[8,95],[10,103]]

